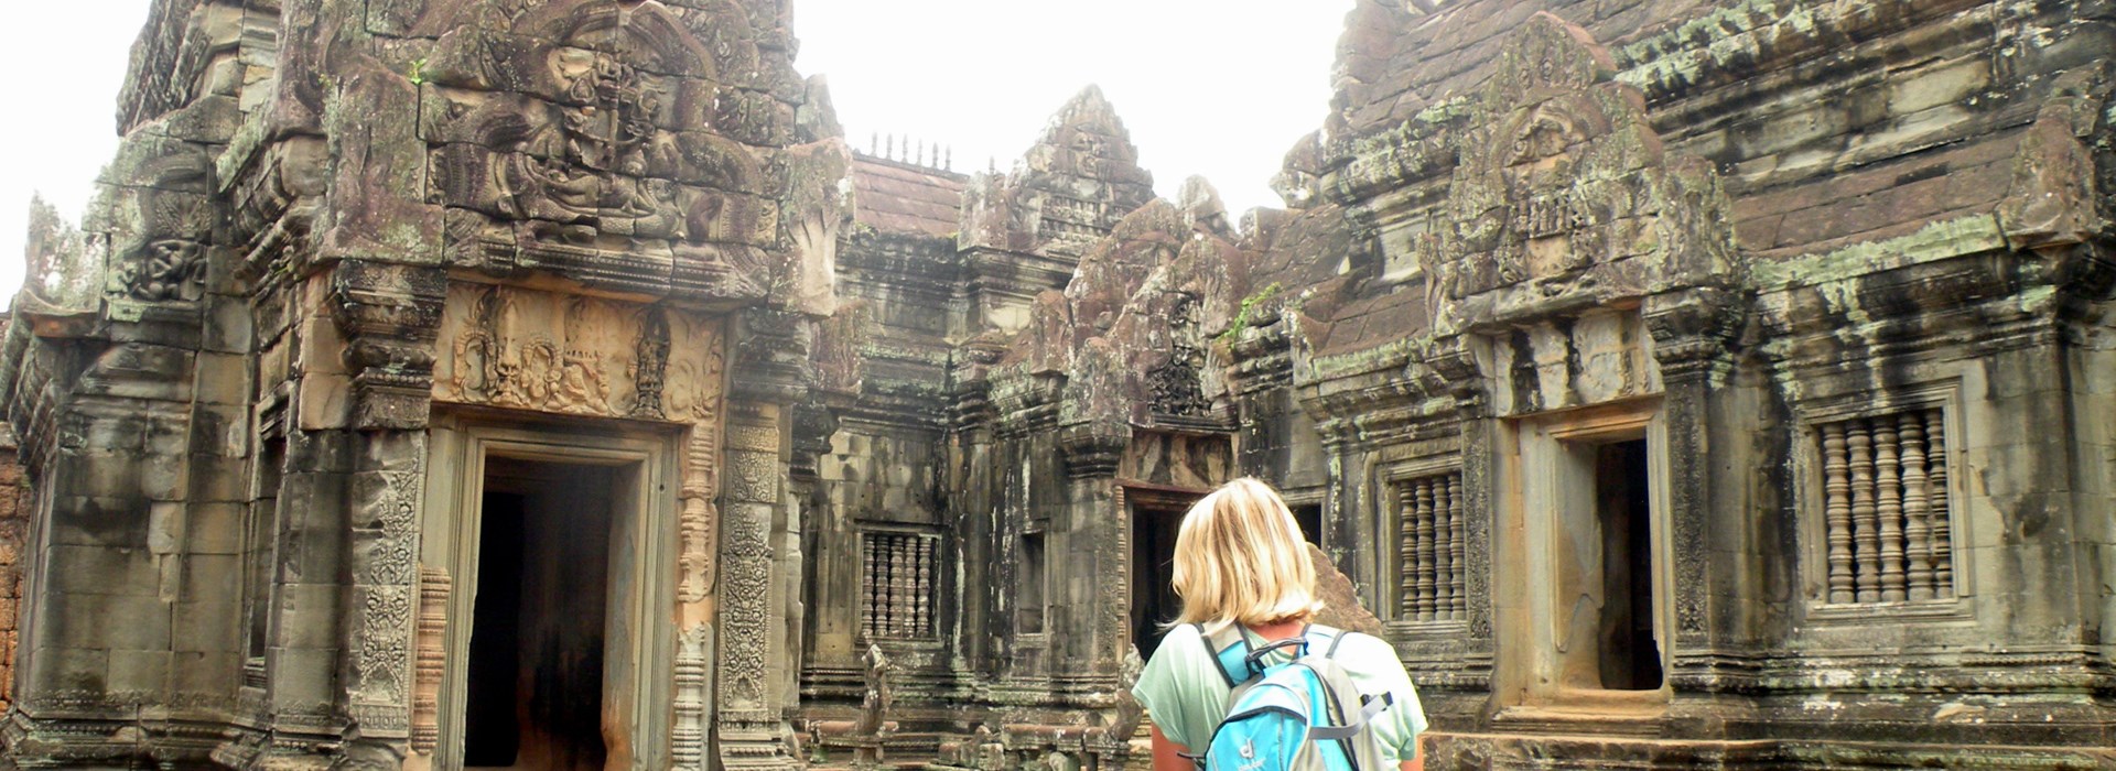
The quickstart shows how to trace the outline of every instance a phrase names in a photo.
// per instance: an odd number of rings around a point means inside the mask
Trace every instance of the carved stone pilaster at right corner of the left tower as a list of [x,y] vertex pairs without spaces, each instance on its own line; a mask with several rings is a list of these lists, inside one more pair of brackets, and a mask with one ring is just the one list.
[[808,393],[806,317],[745,311],[728,368],[719,505],[715,754],[726,769],[791,769],[800,526],[789,501],[791,406]]

